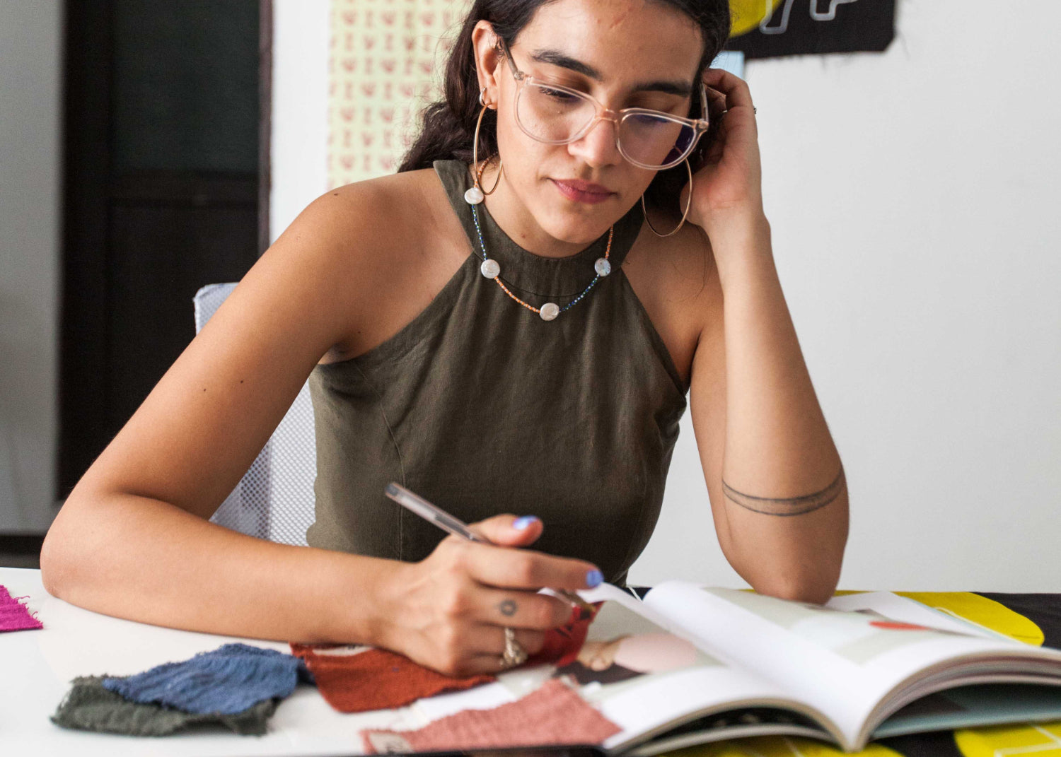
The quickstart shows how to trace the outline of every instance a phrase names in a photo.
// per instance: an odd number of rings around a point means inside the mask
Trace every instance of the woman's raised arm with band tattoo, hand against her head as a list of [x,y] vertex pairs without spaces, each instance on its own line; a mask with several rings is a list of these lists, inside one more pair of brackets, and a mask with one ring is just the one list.
[[711,242],[721,300],[700,334],[691,387],[715,529],[753,588],[824,602],[848,535],[843,468],[773,264],[748,86],[717,69],[703,77],[712,111],[726,110],[714,116],[721,125],[693,177],[689,215]]

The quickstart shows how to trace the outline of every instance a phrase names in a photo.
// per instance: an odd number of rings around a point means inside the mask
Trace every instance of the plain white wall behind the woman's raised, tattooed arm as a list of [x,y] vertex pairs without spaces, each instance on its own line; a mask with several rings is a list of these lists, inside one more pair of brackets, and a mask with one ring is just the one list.
[[[845,461],[846,588],[1061,591],[1061,6],[901,0],[751,61],[775,257]],[[741,585],[685,419],[633,580]]]

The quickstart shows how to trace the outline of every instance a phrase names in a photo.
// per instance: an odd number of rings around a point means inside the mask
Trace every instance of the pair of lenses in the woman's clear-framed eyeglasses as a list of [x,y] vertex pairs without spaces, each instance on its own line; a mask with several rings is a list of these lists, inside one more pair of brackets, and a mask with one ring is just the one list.
[[[592,102],[545,85],[527,83],[517,99],[516,117],[530,136],[566,142],[596,117]],[[627,115],[620,121],[619,143],[632,160],[666,165],[689,149],[695,130],[662,116]]]

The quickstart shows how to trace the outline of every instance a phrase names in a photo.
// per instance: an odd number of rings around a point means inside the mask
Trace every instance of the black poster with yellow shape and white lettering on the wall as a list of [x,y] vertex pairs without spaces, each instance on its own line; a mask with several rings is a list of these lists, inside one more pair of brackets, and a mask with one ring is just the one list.
[[730,0],[727,50],[747,59],[880,52],[895,36],[895,0]]

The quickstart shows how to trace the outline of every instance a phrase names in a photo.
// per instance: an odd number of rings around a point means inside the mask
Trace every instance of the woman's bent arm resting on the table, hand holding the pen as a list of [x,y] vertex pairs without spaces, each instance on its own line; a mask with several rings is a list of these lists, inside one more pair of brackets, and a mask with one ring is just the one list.
[[[587,563],[447,542],[405,564],[265,542],[208,521],[313,367],[386,291],[379,261],[387,256],[371,248],[370,224],[388,205],[370,182],[323,195],[247,272],[70,493],[40,554],[51,594],[158,626],[375,644],[448,672],[486,664],[474,661],[480,648],[492,651],[485,636],[494,620],[524,628],[533,648],[564,619],[562,603],[534,584],[584,587]],[[488,523],[506,544],[540,533],[540,525],[506,533],[510,518]],[[493,618],[486,606],[502,585],[518,595],[520,617]]]

